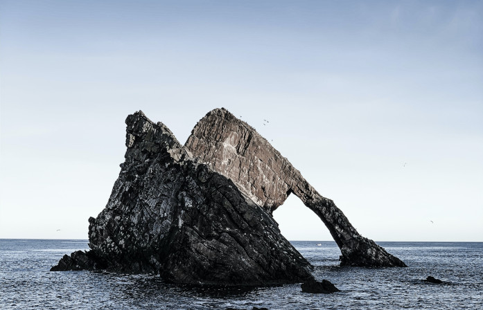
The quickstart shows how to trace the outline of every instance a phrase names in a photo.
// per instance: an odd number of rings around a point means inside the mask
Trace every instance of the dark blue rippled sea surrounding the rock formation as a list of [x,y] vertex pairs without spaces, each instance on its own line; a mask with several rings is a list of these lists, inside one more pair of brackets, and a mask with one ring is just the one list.
[[[340,267],[333,241],[292,241],[340,293],[300,285],[215,288],[152,275],[50,272],[87,240],[0,239],[0,309],[483,309],[483,243],[378,242],[408,268]],[[318,246],[317,244],[321,244]],[[428,275],[446,284],[423,282]]]

